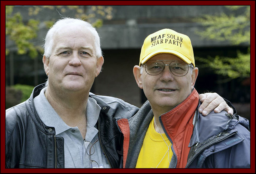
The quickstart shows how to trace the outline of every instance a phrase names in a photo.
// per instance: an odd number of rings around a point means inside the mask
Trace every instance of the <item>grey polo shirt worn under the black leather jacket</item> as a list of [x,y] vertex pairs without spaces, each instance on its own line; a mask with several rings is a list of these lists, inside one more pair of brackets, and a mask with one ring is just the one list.
[[35,97],[35,109],[46,126],[55,128],[56,137],[64,138],[65,168],[90,168],[90,164],[91,167],[98,168],[99,165],[100,168],[110,168],[99,141],[91,148],[91,161],[88,156],[89,147],[98,139],[96,122],[100,114],[100,106],[93,98],[88,98],[86,108],[87,130],[85,140],[83,140],[78,127],[68,126],[52,108],[44,95],[46,88],[43,88],[40,94]]

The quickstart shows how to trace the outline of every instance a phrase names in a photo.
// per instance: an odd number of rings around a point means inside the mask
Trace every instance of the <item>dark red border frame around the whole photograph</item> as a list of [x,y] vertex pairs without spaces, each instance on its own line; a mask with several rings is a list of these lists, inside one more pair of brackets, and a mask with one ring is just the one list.
[[[61,1],[61,5],[250,5],[250,169],[5,169],[5,5],[59,5],[60,1],[1,1],[1,173],[255,173],[255,1]],[[243,154],[241,154],[243,155]]]

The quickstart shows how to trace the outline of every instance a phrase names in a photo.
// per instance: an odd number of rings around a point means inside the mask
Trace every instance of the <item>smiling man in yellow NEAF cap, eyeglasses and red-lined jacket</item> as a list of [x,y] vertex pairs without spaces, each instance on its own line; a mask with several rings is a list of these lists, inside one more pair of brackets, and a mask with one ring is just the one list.
[[134,77],[148,101],[118,121],[124,168],[250,168],[248,120],[202,116],[197,75],[189,37],[162,29],[145,39]]

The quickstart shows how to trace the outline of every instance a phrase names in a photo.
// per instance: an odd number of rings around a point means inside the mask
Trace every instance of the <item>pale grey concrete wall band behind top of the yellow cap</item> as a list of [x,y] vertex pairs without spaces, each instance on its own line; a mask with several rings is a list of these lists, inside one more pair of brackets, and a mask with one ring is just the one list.
[[170,28],[191,38],[194,47],[227,46],[229,42],[202,40],[195,34],[202,26],[193,19],[202,15],[217,15],[226,11],[224,6],[114,6],[113,19],[104,21],[98,29],[103,49],[141,48],[151,33]]

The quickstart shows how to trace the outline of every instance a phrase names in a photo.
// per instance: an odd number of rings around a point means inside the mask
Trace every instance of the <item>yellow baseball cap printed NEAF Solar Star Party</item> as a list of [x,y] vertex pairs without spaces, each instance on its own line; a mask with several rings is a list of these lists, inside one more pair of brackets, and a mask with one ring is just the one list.
[[144,40],[139,58],[139,66],[160,53],[170,53],[195,66],[195,58],[191,41],[187,35],[172,29],[161,29],[148,35]]

